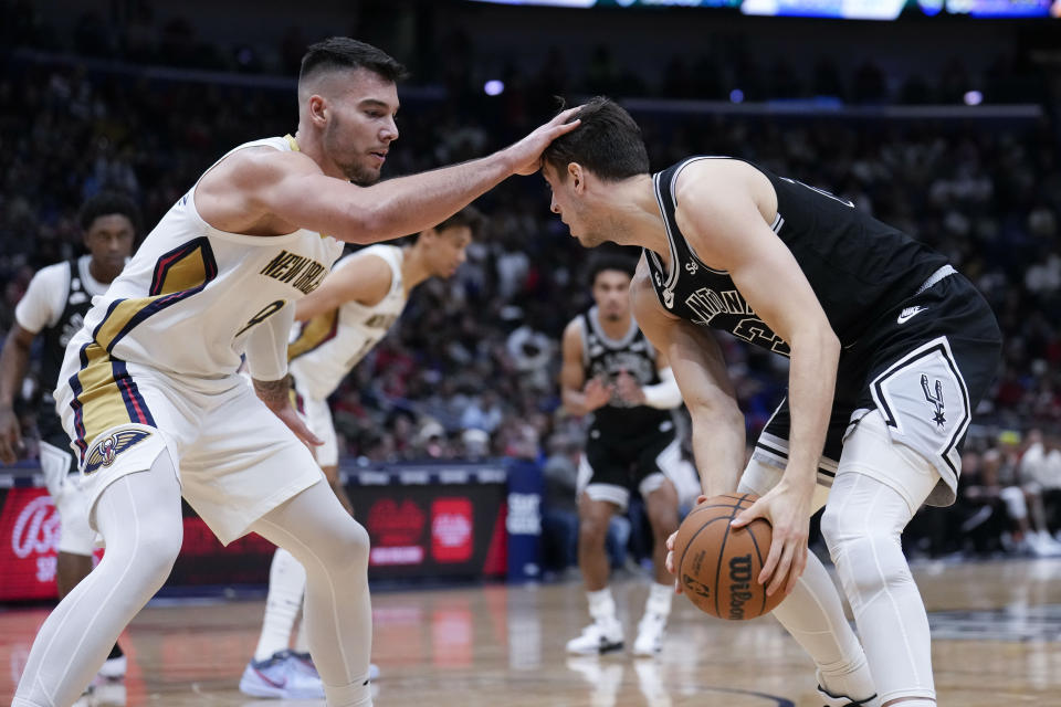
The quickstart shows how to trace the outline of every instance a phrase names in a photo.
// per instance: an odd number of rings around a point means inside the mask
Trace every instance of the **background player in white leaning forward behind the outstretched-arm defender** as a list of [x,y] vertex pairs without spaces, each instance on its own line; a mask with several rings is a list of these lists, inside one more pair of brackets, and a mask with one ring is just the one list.
[[[354,506],[339,478],[339,449],[328,397],[386,336],[417,285],[456,272],[481,221],[474,207],[465,207],[419,233],[408,245],[378,243],[351,253],[335,264],[321,287],[295,306],[295,320],[303,324],[287,347],[288,370],[309,430],[324,442],[314,449],[317,463],[350,515]],[[255,697],[292,697],[290,686],[294,684],[300,694],[312,692],[312,663],[304,653],[304,631],[298,632],[294,651],[288,651],[305,587],[305,568],[291,552],[277,548],[269,572],[262,633],[240,680],[242,692]],[[279,673],[283,668],[273,666],[282,664],[293,677],[277,687],[280,680],[263,676],[271,671]],[[307,673],[311,679],[297,677]],[[375,679],[375,666],[370,673]]]

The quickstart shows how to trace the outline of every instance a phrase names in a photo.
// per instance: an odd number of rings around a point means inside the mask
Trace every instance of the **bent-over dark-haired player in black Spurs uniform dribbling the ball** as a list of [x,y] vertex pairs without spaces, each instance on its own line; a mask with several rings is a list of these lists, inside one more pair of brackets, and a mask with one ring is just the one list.
[[[955,498],[969,416],[999,362],[987,303],[942,255],[839,197],[732,158],[651,175],[622,108],[598,98],[576,115],[581,126],[543,156],[551,210],[584,245],[643,246],[634,316],[689,407],[704,493],[760,496],[734,525],[774,527],[758,580],[788,593],[774,613],[815,659],[821,701],[935,705],[900,534],[923,503]],[[788,397],[747,466],[711,328],[790,362]],[[807,552],[822,505],[861,644]]]

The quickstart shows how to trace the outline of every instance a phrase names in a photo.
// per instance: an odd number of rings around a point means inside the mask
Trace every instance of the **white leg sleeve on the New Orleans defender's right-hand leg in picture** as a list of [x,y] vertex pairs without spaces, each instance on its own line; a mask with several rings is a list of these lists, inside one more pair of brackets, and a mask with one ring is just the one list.
[[306,570],[303,621],[329,707],[370,706],[368,532],[324,483],[274,508],[251,529],[290,551]]

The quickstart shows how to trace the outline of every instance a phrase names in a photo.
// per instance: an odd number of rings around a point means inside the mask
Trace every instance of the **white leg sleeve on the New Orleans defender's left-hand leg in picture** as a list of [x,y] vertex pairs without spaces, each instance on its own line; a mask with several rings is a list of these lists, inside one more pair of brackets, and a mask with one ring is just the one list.
[[183,536],[169,454],[150,471],[108,485],[96,502],[96,527],[107,551],[41,626],[15,692],[19,707],[73,705],[118,634],[169,577]]

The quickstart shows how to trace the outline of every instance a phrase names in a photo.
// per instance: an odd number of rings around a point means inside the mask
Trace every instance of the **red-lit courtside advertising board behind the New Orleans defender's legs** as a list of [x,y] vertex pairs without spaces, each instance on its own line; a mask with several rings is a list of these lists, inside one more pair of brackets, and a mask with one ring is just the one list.
[[[59,513],[46,490],[0,487],[0,601],[54,599]],[[355,516],[371,538],[369,580],[503,577],[510,536],[497,465],[433,465],[347,475]],[[183,544],[164,591],[263,585],[274,546],[250,534],[222,547],[188,504]],[[103,551],[97,551],[97,558]]]

